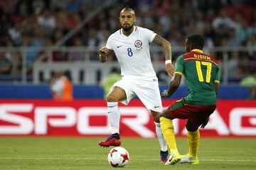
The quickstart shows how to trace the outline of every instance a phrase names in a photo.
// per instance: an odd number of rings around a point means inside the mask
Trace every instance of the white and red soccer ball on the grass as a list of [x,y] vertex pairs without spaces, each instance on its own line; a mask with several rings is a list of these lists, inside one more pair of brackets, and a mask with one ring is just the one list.
[[114,147],[110,150],[107,160],[113,167],[123,167],[129,162],[129,153],[123,147]]

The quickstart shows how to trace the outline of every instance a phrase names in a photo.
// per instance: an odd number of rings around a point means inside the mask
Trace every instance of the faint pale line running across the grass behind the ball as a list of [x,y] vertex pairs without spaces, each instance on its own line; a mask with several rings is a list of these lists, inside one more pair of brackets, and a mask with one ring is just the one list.
[[[0,157],[2,160],[9,159],[33,159],[33,160],[42,160],[42,159],[53,159],[53,160],[107,160],[103,158],[72,158],[72,157]],[[133,161],[134,159],[131,159]],[[142,162],[151,162],[151,161],[159,161],[159,159],[137,159]],[[200,159],[201,162],[256,162],[255,159]]]

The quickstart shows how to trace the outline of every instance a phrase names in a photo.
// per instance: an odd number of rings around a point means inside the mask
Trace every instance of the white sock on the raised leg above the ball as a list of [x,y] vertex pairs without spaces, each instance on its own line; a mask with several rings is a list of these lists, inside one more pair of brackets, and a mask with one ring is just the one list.
[[120,113],[118,102],[107,102],[107,117],[110,121],[111,134],[119,133]]

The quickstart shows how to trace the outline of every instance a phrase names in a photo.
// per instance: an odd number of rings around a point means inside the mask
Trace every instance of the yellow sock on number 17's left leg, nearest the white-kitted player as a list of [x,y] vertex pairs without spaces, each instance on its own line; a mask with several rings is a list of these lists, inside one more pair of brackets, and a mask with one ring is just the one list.
[[177,150],[176,140],[174,135],[174,125],[171,119],[168,118],[160,118],[161,123],[161,131],[163,132],[164,139],[167,142],[167,145],[172,150]]

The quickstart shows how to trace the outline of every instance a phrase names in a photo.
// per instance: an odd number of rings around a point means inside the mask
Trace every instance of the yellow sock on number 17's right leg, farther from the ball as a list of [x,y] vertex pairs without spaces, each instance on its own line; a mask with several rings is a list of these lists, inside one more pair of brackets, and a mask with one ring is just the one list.
[[200,140],[199,130],[196,130],[195,132],[188,131],[187,139],[188,139],[188,154],[190,154],[193,157],[197,157],[199,140]]

